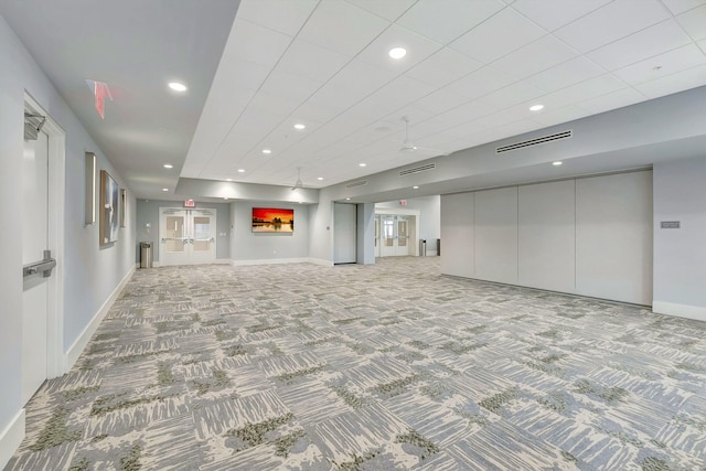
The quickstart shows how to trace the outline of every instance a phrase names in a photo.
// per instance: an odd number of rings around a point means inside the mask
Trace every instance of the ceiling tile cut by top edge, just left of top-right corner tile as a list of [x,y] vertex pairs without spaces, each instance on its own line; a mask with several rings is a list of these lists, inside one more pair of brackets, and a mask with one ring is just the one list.
[[614,0],[555,34],[587,53],[668,18],[670,13],[657,0]]

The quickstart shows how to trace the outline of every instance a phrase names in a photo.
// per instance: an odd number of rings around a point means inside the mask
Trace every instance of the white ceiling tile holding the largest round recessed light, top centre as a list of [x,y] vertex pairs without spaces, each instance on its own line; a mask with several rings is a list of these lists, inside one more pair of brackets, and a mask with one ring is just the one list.
[[[392,58],[388,53],[393,47],[405,47],[407,55],[400,60]],[[441,44],[393,24],[361,51],[356,58],[400,74],[440,49]]]

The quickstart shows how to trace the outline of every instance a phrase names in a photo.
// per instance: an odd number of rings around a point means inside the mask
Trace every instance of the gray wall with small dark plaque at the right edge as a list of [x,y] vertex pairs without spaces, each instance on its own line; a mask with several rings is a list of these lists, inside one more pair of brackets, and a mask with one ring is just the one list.
[[[706,151],[654,167],[654,310],[706,321]],[[662,229],[678,221],[680,229]]]

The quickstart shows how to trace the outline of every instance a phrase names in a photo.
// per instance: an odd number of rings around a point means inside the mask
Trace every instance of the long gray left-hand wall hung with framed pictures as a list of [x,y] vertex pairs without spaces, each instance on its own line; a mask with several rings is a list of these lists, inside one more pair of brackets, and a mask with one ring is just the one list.
[[[25,90],[66,132],[64,254],[57,254],[63,270],[64,335],[66,352],[99,312],[122,279],[135,267],[135,226],[129,220],[119,240],[107,248],[98,245],[98,225],[84,226],[84,153],[97,156],[98,168],[110,172],[121,188],[124,182],[83,128],[71,108],[56,93],[49,78],[30,56],[17,35],[0,17],[0,218],[13,221],[23,212],[21,180],[14,169],[22,157]],[[87,96],[90,99],[90,96]],[[135,199],[128,192],[128,205]],[[21,318],[22,314],[22,237],[6,231],[0,239],[0,431],[11,425],[22,408],[20,399]],[[0,443],[2,449],[4,443]],[[2,463],[0,463],[1,465]]]

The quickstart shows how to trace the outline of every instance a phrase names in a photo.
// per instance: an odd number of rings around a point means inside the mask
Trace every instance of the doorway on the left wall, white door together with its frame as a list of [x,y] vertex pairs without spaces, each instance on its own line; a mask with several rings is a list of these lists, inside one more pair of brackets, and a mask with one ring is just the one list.
[[64,373],[63,226],[65,133],[24,98],[22,178],[22,404]]

